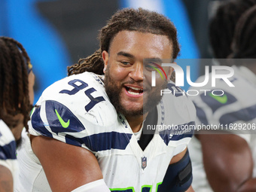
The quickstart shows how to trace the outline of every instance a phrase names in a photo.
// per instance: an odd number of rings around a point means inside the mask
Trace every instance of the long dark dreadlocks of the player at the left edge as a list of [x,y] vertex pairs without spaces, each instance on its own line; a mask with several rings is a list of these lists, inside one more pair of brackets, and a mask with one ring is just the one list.
[[[26,62],[27,61],[27,62]],[[29,56],[22,44],[13,38],[0,37],[0,119],[13,129],[18,120],[17,114],[23,114],[23,124],[28,130],[29,79],[27,65]]]

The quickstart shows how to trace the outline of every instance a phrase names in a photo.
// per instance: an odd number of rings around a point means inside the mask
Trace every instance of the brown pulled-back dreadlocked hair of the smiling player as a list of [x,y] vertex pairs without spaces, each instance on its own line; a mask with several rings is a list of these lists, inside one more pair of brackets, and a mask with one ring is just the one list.
[[99,50],[93,55],[84,59],[79,59],[77,64],[68,67],[68,74],[80,74],[82,72],[94,72],[103,75],[104,62],[102,59],[102,51],[108,52],[111,41],[118,32],[136,31],[150,32],[155,35],[166,35],[172,42],[172,59],[176,59],[180,51],[178,44],[177,30],[173,23],[162,14],[154,11],[148,11],[142,8],[133,9],[125,8],[117,11],[106,26],[99,32]]

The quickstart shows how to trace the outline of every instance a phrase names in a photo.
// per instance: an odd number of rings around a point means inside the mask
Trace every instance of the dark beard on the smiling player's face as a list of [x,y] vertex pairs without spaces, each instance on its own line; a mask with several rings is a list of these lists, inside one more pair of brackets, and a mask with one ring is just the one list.
[[[134,84],[135,82],[130,81],[129,84]],[[154,91],[154,93],[149,94],[148,101],[143,102],[143,107],[138,110],[133,111],[127,111],[126,108],[123,108],[123,105],[121,105],[121,98],[120,98],[120,92],[122,90],[122,87],[115,87],[113,81],[111,80],[111,77],[108,73],[108,69],[105,72],[105,91],[108,95],[108,98],[112,105],[114,105],[114,108],[116,111],[120,112],[124,116],[141,116],[143,114],[148,113],[151,111],[162,99],[163,96],[160,95],[160,90],[163,90],[166,88],[167,81],[163,83],[163,86],[159,87],[157,90]]]

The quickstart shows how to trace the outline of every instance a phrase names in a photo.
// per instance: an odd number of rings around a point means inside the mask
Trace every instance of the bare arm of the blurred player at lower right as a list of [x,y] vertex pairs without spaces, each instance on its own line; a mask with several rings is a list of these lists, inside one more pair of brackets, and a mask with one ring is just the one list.
[[202,144],[203,164],[214,191],[256,191],[253,160],[245,139],[236,135],[197,135]]

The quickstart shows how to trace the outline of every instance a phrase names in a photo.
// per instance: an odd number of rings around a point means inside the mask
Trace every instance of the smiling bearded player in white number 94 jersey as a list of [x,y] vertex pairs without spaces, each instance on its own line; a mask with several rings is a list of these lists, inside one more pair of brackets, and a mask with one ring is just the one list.
[[[124,9],[99,38],[100,49],[69,67],[69,77],[38,100],[31,143],[18,155],[17,191],[193,191],[191,132],[142,134],[147,124],[194,123],[192,102],[160,96],[175,84],[157,75],[151,87],[145,62],[178,56],[175,26],[155,12]],[[164,68],[167,79],[172,71]]]

